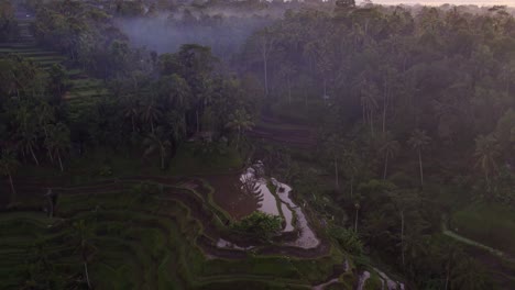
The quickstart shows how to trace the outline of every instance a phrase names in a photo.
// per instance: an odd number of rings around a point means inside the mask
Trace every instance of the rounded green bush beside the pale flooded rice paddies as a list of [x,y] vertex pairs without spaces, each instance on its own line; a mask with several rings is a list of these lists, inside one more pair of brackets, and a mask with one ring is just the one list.
[[255,211],[232,225],[232,228],[258,239],[270,241],[282,228],[282,219],[277,215]]

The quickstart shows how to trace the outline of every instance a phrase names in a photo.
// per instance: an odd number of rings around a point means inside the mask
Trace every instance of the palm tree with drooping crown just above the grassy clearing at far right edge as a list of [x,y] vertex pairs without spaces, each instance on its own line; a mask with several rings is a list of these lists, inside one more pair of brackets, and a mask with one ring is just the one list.
[[486,181],[486,190],[490,192],[490,176],[497,169],[495,159],[500,154],[497,140],[490,135],[479,135],[475,138],[475,153],[476,158],[475,167],[481,167]]

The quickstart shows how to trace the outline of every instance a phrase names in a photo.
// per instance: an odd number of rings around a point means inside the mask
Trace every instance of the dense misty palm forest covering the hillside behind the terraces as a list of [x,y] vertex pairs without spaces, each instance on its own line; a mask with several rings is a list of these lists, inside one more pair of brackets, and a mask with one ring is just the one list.
[[[23,37],[17,4],[35,18]],[[254,0],[0,9],[10,201],[25,168],[63,177],[97,150],[127,150],[160,174],[184,147],[201,158],[255,154],[357,260],[390,265],[413,289],[494,289],[489,265],[442,224],[470,204],[515,207],[513,10]],[[281,134],[303,143],[304,132],[314,132],[308,149],[277,145]],[[472,237],[513,250],[506,231],[487,233]]]

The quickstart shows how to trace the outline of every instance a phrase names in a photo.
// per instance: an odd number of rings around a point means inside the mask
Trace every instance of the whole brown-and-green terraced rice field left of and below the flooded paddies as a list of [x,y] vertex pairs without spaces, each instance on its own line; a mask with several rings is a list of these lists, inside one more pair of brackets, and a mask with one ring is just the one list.
[[[41,186],[25,183],[21,190],[41,192]],[[352,289],[357,283],[355,269],[328,239],[316,249],[217,246],[220,237],[232,238],[230,217],[210,201],[201,180],[127,179],[53,191],[58,199],[52,219],[41,211],[0,213],[8,237],[0,242],[1,289],[56,274],[68,283],[84,282],[80,221],[90,232],[87,261],[96,289],[309,289],[332,279],[331,287]]]

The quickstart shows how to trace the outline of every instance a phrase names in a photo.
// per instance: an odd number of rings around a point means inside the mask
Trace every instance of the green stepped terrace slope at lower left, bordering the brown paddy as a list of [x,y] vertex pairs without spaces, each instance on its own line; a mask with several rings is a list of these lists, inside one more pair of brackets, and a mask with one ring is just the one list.
[[[329,276],[331,264],[341,258],[333,253],[307,264],[281,256],[207,259],[198,244],[205,221],[180,201],[184,196],[168,201],[168,189],[160,193],[145,183],[133,186],[130,193],[129,189],[77,188],[77,193],[59,197],[55,219],[0,214],[2,233],[10,237],[2,239],[2,289],[18,288],[22,281],[84,287],[84,263],[91,283],[101,289],[202,289],[237,287],[243,280],[272,289],[304,289]],[[35,243],[20,243],[28,236]],[[74,250],[77,245],[81,250]]]

